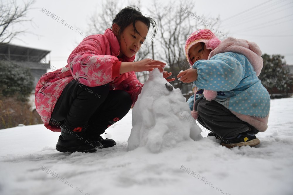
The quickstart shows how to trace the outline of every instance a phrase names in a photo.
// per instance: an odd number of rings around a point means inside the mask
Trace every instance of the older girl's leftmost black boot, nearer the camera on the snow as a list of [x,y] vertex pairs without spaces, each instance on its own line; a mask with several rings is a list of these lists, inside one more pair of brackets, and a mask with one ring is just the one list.
[[[76,130],[78,129],[78,130]],[[103,145],[99,141],[91,141],[86,136],[86,128],[76,128],[75,131],[61,127],[61,135],[56,144],[59,152],[95,152],[102,149]]]

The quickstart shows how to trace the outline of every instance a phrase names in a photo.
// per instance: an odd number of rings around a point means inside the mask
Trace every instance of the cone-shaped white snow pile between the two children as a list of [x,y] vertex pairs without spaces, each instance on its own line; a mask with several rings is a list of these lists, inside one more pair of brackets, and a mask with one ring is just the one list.
[[180,89],[174,89],[159,69],[154,69],[132,111],[128,149],[146,147],[158,153],[163,147],[174,147],[180,141],[200,139],[201,129],[195,120],[187,121],[183,115],[192,118]]

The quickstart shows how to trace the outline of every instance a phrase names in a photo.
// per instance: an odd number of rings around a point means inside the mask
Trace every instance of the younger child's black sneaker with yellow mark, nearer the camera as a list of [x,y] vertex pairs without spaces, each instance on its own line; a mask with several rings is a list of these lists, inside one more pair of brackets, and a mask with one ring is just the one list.
[[260,141],[252,131],[246,131],[221,140],[221,145],[227,148],[233,148],[235,146],[256,146],[258,144],[260,144]]

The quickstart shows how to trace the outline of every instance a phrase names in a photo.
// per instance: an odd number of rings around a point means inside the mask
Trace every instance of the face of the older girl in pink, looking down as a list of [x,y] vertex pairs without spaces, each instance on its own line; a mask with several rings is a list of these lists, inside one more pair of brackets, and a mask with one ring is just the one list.
[[131,58],[142,46],[148,33],[147,25],[142,21],[136,21],[135,27],[139,34],[134,31],[133,25],[128,25],[122,32],[120,36],[120,54]]

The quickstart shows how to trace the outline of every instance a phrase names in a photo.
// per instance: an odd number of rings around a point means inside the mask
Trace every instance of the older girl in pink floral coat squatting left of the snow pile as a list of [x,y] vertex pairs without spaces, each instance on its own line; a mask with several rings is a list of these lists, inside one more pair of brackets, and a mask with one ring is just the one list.
[[[86,37],[69,55],[67,65],[44,74],[35,90],[36,110],[47,129],[60,132],[60,152],[94,152],[116,142],[100,134],[123,118],[142,90],[135,72],[166,65],[144,59],[133,62],[149,27],[156,22],[137,7],[122,9],[104,34]],[[164,72],[167,78],[171,73]],[[173,79],[166,79],[173,81]]]

